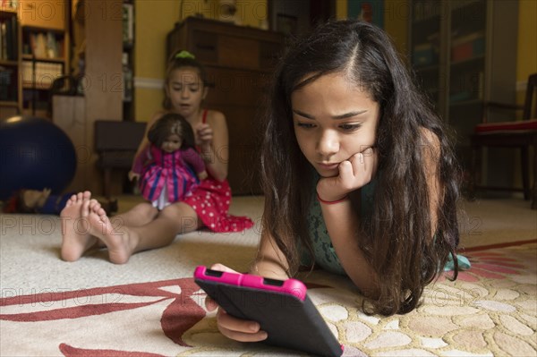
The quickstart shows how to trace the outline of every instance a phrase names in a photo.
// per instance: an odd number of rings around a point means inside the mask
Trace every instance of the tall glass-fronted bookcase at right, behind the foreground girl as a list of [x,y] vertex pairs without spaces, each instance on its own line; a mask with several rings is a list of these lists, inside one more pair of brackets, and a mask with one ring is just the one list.
[[[484,102],[516,102],[518,3],[414,0],[410,5],[411,66],[439,115],[456,132],[459,159],[470,167],[470,134],[481,123]],[[514,119],[508,115],[488,119]]]

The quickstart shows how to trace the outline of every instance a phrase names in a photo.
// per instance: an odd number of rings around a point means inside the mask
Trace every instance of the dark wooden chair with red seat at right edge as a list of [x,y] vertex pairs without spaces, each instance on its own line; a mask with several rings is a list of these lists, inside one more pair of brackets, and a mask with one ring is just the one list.
[[[532,112],[537,88],[537,73],[530,75],[525,94],[524,106],[488,102],[483,110],[482,123],[475,127],[471,136],[473,177],[469,193],[474,197],[477,190],[523,191],[524,200],[532,199],[532,209],[537,209],[537,110]],[[537,105],[535,105],[537,106]],[[516,122],[488,123],[491,109],[523,110],[522,120]],[[533,113],[533,114],[532,114]],[[523,188],[492,187],[482,184],[481,157],[484,147],[515,148],[521,152]],[[530,187],[530,157],[533,147],[533,193]]]

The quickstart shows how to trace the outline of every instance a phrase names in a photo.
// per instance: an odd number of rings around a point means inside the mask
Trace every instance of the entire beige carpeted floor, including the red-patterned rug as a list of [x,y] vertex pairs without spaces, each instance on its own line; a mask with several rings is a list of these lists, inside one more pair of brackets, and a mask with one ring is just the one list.
[[[428,287],[422,307],[407,315],[365,316],[344,277],[316,271],[305,278],[345,356],[537,355],[537,244],[471,249],[537,239],[536,212],[528,207],[523,200],[466,203],[474,220],[462,245],[473,268]],[[235,198],[232,213],[252,217],[251,230],[185,234],[124,266],[109,263],[106,251],[74,263],[59,259],[58,217],[0,216],[0,355],[300,355],[220,336],[192,282],[197,265],[248,268],[261,209],[260,197]]]

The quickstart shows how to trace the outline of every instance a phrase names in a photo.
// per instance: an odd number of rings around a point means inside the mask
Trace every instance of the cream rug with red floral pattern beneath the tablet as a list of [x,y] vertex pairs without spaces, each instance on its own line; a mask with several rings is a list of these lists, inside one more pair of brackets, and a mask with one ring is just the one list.
[[[469,251],[473,268],[440,278],[406,315],[366,316],[343,277],[308,276],[311,300],[345,356],[537,355],[537,243]],[[184,276],[184,275],[183,275]],[[2,356],[291,356],[217,332],[191,277],[72,291],[3,288]]]

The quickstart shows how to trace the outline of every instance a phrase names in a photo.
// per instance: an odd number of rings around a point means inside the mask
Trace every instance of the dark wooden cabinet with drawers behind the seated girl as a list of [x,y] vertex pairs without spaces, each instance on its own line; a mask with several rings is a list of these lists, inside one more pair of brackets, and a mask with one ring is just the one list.
[[189,17],[167,36],[167,56],[186,49],[205,65],[210,89],[206,106],[226,115],[228,180],[234,194],[260,194],[259,115],[277,57],[280,33]]

